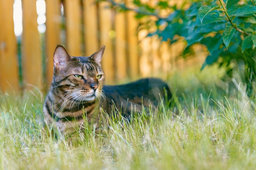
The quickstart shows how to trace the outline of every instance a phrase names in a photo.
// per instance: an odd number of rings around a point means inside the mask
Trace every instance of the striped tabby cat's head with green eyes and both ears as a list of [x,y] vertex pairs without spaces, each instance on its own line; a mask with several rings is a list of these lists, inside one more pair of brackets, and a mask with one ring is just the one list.
[[77,102],[90,102],[100,97],[105,79],[101,68],[104,50],[102,46],[90,57],[72,57],[58,45],[54,51],[52,88]]

